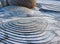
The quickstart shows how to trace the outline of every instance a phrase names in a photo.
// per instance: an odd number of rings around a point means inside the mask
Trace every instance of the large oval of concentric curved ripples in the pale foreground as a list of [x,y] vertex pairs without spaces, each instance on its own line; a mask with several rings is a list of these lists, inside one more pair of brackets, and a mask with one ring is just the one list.
[[42,19],[18,19],[0,24],[1,40],[4,43],[44,43],[54,38],[46,31],[47,23]]

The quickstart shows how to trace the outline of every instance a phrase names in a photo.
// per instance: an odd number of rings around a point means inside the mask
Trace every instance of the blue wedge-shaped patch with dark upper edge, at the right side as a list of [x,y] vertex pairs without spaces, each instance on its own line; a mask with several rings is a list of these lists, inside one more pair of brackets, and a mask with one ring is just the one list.
[[60,21],[60,12],[51,11],[51,10],[44,10],[44,9],[40,9],[40,11],[42,11],[43,13],[46,13],[48,15],[54,16],[55,20]]

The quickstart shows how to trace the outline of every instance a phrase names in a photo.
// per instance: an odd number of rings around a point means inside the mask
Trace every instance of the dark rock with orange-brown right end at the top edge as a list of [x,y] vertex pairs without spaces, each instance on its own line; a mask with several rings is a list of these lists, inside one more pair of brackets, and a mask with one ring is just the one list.
[[34,8],[36,6],[36,0],[1,0],[2,5],[16,5],[24,6],[27,8]]

